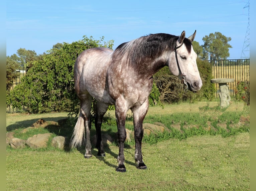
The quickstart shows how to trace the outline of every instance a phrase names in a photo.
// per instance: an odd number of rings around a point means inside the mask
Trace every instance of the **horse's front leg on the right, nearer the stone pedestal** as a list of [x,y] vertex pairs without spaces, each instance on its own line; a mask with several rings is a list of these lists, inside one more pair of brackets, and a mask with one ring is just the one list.
[[146,100],[140,107],[132,109],[133,112],[133,125],[134,125],[134,138],[135,138],[135,155],[134,159],[138,169],[146,169],[141,152],[141,142],[143,138],[143,120],[148,111],[148,100]]

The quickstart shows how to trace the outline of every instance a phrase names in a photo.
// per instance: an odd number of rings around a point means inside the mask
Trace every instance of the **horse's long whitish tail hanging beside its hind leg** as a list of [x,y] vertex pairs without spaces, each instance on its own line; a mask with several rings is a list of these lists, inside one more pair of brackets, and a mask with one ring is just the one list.
[[84,116],[80,112],[76,126],[73,130],[73,135],[71,137],[70,147],[81,147],[83,141],[85,141],[85,125],[84,125]]

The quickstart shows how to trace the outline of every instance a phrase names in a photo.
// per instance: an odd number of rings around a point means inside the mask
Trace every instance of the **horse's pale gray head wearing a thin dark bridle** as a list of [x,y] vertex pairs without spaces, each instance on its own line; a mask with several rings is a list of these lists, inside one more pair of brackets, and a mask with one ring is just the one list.
[[195,36],[196,31],[188,38],[185,38],[185,31],[181,33],[169,63],[170,72],[174,76],[179,76],[190,91],[198,91],[203,85],[197,67],[197,54],[192,47]]

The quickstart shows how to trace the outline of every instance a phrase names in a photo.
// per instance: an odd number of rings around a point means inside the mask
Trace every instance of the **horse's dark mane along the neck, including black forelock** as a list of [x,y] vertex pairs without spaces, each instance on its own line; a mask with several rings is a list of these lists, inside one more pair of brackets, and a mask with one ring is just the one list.
[[[158,33],[140,37],[130,42],[122,43],[113,53],[113,58],[125,58],[125,62],[132,67],[140,63],[147,63],[161,56],[163,51],[174,51],[178,36]],[[191,41],[184,39],[184,44],[191,52]]]

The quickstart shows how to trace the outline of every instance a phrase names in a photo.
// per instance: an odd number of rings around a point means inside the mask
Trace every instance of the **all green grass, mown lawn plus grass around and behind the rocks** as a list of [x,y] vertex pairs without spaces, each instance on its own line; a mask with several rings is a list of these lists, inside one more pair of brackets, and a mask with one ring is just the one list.
[[[128,113],[129,114],[129,113]],[[150,107],[144,122],[199,125],[199,129],[184,129],[180,133],[158,133],[143,138],[142,152],[147,170],[136,169],[134,140],[125,143],[126,173],[117,173],[118,146],[106,145],[106,157],[84,158],[85,150],[59,150],[48,144],[44,149],[11,149],[6,147],[7,190],[249,190],[249,126],[230,129],[229,124],[249,115],[249,107],[242,102],[231,102],[220,109],[215,102],[180,103]],[[67,113],[6,114],[7,132],[27,139],[33,134],[52,132],[71,135],[72,127],[33,129],[21,133],[37,119],[57,121]],[[217,131],[206,131],[211,121]],[[227,132],[218,128],[218,122],[227,123]],[[126,128],[133,129],[133,120],[127,115]],[[114,112],[109,111],[102,130],[114,136],[117,132]],[[92,127],[92,135],[95,128]],[[50,142],[50,140],[49,140]]]

